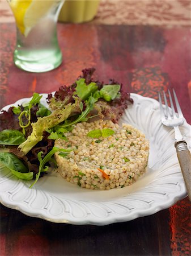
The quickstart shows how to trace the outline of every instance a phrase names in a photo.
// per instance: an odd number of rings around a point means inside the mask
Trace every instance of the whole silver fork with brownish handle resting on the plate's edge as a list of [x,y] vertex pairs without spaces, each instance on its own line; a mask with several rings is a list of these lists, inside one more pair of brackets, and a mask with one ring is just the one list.
[[173,105],[171,92],[168,90],[171,109],[168,106],[167,97],[163,91],[165,106],[163,106],[162,104],[162,98],[159,93],[160,114],[161,114],[163,125],[171,126],[175,130],[176,153],[179,159],[182,175],[184,177],[184,182],[186,185],[188,197],[189,197],[189,200],[191,201],[191,155],[190,155],[190,151],[188,150],[187,143],[184,141],[179,129],[179,126],[184,123],[184,116],[181,112],[181,108],[179,105],[179,101],[177,100],[175,90],[174,89],[172,90],[173,90],[173,96],[175,99],[177,113],[175,112],[175,107]]

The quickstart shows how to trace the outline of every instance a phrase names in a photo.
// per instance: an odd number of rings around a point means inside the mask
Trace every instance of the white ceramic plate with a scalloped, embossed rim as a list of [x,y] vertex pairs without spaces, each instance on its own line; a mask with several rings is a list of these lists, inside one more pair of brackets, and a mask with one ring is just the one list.
[[[47,94],[43,94],[43,104],[46,97]],[[89,190],[68,183],[52,172],[29,189],[31,181],[19,180],[1,167],[1,203],[52,222],[107,225],[154,214],[184,198],[186,189],[174,147],[173,129],[162,125],[158,101],[133,93],[131,97],[134,104],[126,110],[120,123],[130,123],[150,140],[147,172],[133,185],[110,191]],[[28,100],[24,98],[14,105]],[[185,121],[180,129],[190,142],[190,125]]]

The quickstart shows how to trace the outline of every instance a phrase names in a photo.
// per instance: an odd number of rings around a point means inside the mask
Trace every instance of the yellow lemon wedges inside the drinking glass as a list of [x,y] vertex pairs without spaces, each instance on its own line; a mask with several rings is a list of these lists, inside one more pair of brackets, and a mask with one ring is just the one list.
[[14,13],[20,32],[27,36],[58,0],[12,0],[10,7]]

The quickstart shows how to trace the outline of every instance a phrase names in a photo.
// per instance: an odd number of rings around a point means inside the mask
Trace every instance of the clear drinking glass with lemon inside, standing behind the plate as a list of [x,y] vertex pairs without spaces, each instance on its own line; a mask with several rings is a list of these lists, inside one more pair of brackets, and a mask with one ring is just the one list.
[[8,0],[16,22],[15,65],[46,72],[62,63],[57,20],[64,0]]

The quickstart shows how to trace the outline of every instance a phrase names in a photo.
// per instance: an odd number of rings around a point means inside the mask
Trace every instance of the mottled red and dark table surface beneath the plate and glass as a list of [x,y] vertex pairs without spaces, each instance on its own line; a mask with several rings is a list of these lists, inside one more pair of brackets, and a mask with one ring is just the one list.
[[[28,73],[12,63],[13,23],[0,24],[1,108],[33,92],[49,93],[71,84],[82,69],[95,67],[102,81],[114,78],[130,92],[152,98],[175,88],[191,123],[190,28],[125,24],[58,24],[62,65]],[[1,205],[2,256],[191,255],[188,198],[151,215],[106,226],[56,224]]]

